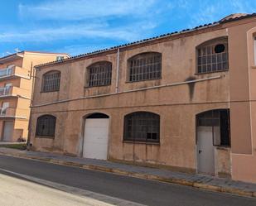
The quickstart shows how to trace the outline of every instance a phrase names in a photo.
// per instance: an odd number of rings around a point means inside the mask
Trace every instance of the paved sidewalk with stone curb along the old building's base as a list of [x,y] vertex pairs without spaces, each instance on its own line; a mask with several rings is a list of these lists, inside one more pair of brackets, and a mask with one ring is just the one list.
[[128,175],[147,180],[158,180],[167,183],[182,184],[200,189],[210,189],[217,192],[239,194],[256,198],[256,184],[217,178],[214,176],[186,174],[171,170],[120,164],[105,160],[61,156],[47,152],[19,151],[4,147],[0,147],[0,155],[43,160],[60,165],[77,166],[89,170],[100,170],[118,175]]

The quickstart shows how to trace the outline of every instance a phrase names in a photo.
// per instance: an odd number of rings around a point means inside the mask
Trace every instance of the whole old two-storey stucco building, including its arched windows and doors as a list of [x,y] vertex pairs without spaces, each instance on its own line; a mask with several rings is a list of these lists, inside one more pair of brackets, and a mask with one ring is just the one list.
[[32,148],[256,182],[255,38],[235,14],[38,65]]

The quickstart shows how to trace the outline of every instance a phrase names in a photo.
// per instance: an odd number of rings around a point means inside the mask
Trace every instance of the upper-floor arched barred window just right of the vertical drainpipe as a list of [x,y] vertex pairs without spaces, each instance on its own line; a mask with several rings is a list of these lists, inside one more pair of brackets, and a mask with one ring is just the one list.
[[157,52],[135,55],[128,60],[130,82],[161,79],[162,54]]

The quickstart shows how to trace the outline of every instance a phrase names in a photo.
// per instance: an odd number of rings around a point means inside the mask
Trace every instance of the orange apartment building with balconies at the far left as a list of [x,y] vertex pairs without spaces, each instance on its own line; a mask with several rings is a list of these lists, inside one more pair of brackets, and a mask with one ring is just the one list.
[[26,141],[34,65],[69,57],[22,51],[0,58],[0,141]]

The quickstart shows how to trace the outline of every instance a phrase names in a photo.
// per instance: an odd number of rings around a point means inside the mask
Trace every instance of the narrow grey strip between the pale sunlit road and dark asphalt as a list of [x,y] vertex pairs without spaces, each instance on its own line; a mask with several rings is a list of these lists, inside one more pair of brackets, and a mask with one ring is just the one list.
[[59,184],[59,183],[51,182],[51,181],[48,181],[48,180],[42,180],[42,179],[32,177],[32,176],[29,176],[29,175],[23,175],[23,174],[13,172],[13,171],[10,171],[10,170],[4,170],[2,168],[0,168],[0,170],[2,170],[3,172],[6,172],[6,173],[12,174],[12,175],[17,175],[17,176],[22,177],[23,179],[26,179],[26,180],[31,180],[31,181],[36,182],[38,184],[43,184],[43,185],[49,186],[49,187],[54,188],[54,189],[59,189],[61,191],[64,191],[64,192],[67,192],[67,193],[70,193],[70,194],[78,195],[80,197],[87,197],[87,198],[90,198],[90,199],[97,199],[97,200],[102,201],[102,202],[107,203],[107,204],[114,204],[114,205],[118,205],[118,206],[146,206],[144,204],[138,204],[138,203],[134,203],[134,202],[128,201],[128,200],[110,197],[110,196],[105,195],[105,194],[98,194],[98,193],[91,192],[89,190],[78,189],[78,188],[75,188],[75,187],[72,187],[72,186],[67,186],[65,184]]

